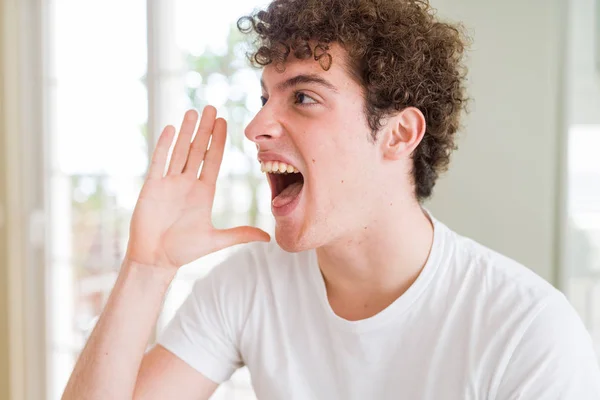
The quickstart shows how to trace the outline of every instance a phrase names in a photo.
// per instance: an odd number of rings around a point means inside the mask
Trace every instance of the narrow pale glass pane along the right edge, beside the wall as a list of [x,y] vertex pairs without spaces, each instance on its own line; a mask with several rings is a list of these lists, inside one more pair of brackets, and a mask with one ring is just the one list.
[[569,2],[565,289],[600,359],[600,8]]

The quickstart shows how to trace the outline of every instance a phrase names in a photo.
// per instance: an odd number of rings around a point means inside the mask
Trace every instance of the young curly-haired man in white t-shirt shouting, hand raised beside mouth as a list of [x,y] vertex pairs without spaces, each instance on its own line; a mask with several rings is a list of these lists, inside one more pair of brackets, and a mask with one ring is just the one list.
[[421,207],[464,108],[460,30],[416,0],[275,0],[244,23],[264,66],[246,136],[277,244],[199,281],[144,354],[178,267],[269,240],[211,225],[226,131],[215,109],[195,136],[185,115],[163,174],[167,127],[64,398],[207,399],[246,365],[260,399],[600,399],[565,297]]

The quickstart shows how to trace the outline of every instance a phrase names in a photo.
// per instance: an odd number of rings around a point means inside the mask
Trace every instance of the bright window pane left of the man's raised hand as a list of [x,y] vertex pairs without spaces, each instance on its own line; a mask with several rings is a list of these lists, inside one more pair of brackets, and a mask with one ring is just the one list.
[[148,164],[146,2],[49,2],[48,399],[112,288]]

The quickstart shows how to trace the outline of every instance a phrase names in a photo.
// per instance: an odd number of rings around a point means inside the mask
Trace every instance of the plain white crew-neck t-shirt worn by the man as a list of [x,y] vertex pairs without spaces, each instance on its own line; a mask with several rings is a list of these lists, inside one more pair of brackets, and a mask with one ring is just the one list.
[[160,337],[270,399],[599,400],[591,338],[533,272],[434,221],[429,259],[379,314],[338,317],[314,251],[252,244],[199,280]]

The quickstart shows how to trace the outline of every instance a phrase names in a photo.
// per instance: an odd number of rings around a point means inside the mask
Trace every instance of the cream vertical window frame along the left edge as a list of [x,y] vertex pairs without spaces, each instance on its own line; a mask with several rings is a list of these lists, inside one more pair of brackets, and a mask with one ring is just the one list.
[[47,157],[41,91],[46,9],[43,0],[2,0],[0,5],[2,129],[6,132],[3,158],[6,160],[9,398],[28,400],[45,397],[45,385],[39,382],[46,382],[44,167]]

